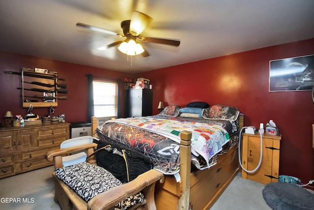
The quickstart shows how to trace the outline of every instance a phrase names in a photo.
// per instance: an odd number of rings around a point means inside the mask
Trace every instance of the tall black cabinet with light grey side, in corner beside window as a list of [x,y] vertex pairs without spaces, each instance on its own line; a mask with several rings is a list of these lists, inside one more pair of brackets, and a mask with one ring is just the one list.
[[153,114],[153,90],[127,90],[125,107],[127,117],[145,117]]

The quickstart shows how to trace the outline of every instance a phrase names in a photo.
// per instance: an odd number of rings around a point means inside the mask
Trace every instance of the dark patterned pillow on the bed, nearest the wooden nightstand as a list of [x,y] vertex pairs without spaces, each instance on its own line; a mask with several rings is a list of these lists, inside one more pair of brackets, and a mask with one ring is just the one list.
[[234,121],[239,116],[239,113],[239,110],[235,107],[217,104],[211,108],[204,109],[202,117],[205,119]]

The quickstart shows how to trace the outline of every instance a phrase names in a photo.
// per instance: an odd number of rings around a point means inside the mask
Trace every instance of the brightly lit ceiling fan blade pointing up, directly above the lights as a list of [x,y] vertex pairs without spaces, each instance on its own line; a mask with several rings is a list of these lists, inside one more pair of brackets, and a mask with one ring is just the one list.
[[138,36],[151,22],[153,18],[138,11],[133,11],[130,23],[130,33]]

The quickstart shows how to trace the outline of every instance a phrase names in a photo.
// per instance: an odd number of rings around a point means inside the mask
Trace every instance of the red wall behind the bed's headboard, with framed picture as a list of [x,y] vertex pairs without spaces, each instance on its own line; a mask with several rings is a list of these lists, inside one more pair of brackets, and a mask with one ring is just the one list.
[[157,69],[151,79],[154,114],[158,101],[185,106],[192,101],[237,107],[245,126],[274,120],[282,134],[280,175],[314,179],[311,91],[269,92],[269,60],[314,54],[314,39]]

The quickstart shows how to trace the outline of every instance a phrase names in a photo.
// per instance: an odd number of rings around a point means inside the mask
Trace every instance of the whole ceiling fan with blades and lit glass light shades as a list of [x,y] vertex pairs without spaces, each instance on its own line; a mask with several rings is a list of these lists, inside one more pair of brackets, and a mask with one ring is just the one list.
[[143,57],[148,57],[149,53],[143,49],[142,45],[137,42],[137,40],[142,42],[150,42],[157,44],[166,44],[178,47],[180,45],[180,40],[178,39],[166,39],[166,38],[153,38],[141,36],[141,32],[153,21],[153,18],[138,11],[133,11],[131,20],[125,20],[121,22],[121,28],[123,34],[113,32],[110,30],[105,30],[96,26],[92,26],[86,23],[77,23],[78,27],[87,28],[89,30],[94,30],[98,32],[103,32],[111,35],[118,35],[120,37],[126,37],[125,40],[116,41],[107,45],[107,48],[120,45],[118,49],[127,55],[139,55]]

